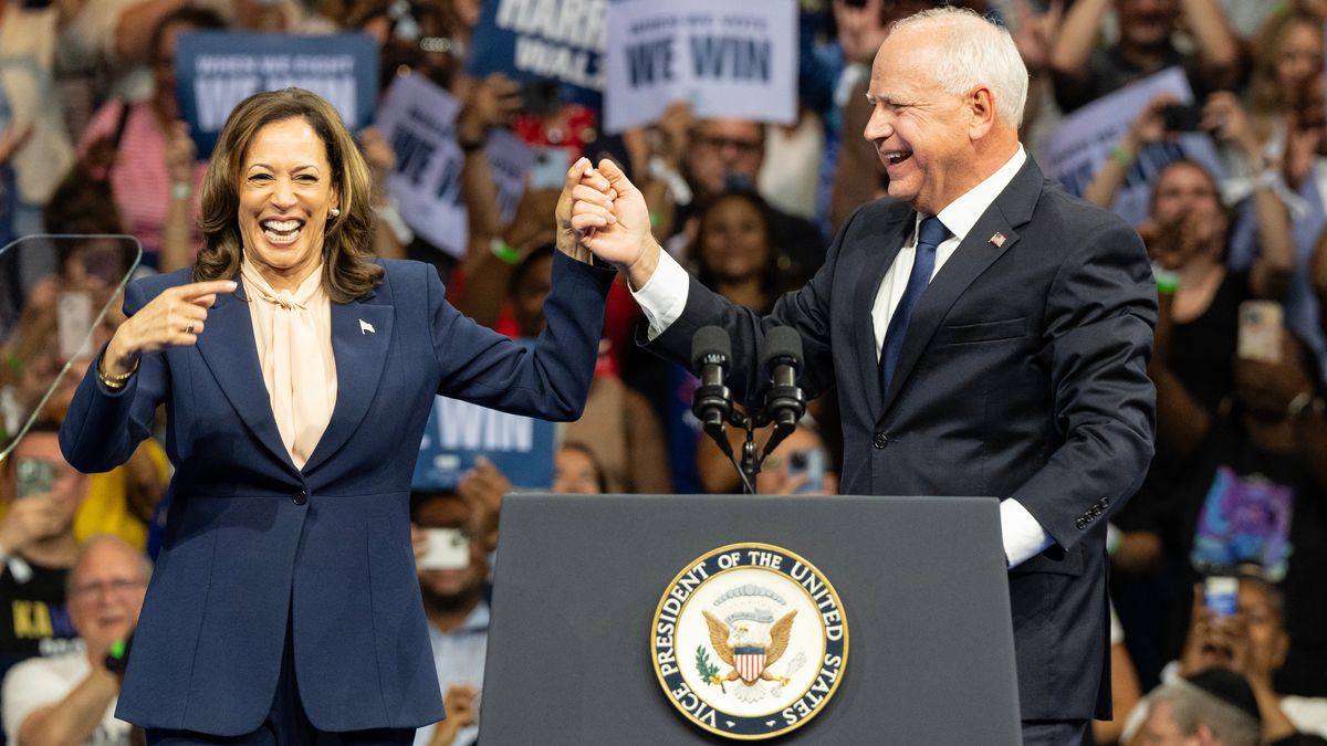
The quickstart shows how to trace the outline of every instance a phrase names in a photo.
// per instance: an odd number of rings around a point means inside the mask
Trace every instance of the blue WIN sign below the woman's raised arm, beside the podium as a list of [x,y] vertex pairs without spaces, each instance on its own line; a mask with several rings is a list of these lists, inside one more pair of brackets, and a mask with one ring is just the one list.
[[553,485],[553,423],[434,397],[410,485],[454,490],[480,455],[514,486],[547,490]]

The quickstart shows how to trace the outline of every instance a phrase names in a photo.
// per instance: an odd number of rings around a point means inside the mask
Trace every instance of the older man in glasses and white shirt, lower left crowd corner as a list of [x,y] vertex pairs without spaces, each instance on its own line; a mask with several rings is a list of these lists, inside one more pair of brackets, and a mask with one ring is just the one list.
[[0,697],[9,743],[130,743],[131,726],[115,719],[119,674],[111,669],[122,662],[117,642],[138,624],[150,575],[147,558],[119,538],[82,546],[69,576],[69,617],[84,649],[9,670]]

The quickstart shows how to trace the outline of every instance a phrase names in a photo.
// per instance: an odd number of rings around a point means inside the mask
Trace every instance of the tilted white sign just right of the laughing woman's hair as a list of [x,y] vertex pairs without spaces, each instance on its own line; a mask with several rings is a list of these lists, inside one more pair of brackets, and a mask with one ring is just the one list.
[[456,145],[460,104],[419,74],[398,77],[374,122],[397,154],[387,192],[401,218],[419,236],[462,258],[470,219],[460,198],[466,157]]

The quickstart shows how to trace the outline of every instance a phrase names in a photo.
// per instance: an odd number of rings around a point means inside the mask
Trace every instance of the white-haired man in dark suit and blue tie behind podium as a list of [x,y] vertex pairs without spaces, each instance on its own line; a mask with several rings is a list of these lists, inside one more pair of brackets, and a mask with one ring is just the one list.
[[[621,171],[576,187],[572,224],[626,276],[661,354],[685,361],[719,324],[754,361],[794,327],[807,394],[837,386],[845,494],[1001,498],[1024,741],[1079,743],[1109,717],[1105,519],[1152,457],[1156,289],[1137,235],[1023,151],[1026,92],[1005,29],[953,8],[900,21],[865,130],[889,199],[764,317],[660,251]],[[763,382],[739,362],[729,385],[755,404]]]

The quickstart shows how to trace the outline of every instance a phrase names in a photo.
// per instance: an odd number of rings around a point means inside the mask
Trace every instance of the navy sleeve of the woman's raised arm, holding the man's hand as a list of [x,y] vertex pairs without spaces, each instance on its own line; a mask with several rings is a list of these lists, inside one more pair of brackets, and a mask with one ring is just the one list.
[[438,273],[426,275],[439,394],[543,419],[581,415],[616,272],[553,252],[553,285],[544,300],[548,327],[533,348],[462,315],[447,303]]

